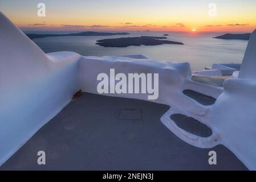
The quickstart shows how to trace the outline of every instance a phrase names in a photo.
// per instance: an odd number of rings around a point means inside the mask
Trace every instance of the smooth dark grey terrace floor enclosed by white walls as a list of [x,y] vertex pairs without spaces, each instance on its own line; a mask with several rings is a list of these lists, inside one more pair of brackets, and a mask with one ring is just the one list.
[[[193,147],[160,121],[169,106],[83,93],[43,126],[0,170],[244,170],[224,146]],[[120,119],[120,109],[140,110]],[[46,152],[46,165],[37,152]],[[217,165],[208,152],[217,152]]]

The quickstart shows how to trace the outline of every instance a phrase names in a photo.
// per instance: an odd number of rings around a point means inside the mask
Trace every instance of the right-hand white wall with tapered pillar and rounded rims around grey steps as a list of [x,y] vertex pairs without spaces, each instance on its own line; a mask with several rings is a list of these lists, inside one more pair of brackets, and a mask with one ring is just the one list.
[[[215,104],[201,105],[201,109],[197,109],[200,104],[179,98],[180,102],[175,102],[175,106],[161,118],[164,125],[182,140],[197,147],[224,144],[247,168],[256,170],[256,31],[251,34],[238,78],[226,79],[223,92],[192,81],[185,85],[186,89],[217,98]],[[189,109],[188,105],[193,109]],[[213,135],[202,138],[178,128],[169,118],[174,113],[198,119],[212,129]]]

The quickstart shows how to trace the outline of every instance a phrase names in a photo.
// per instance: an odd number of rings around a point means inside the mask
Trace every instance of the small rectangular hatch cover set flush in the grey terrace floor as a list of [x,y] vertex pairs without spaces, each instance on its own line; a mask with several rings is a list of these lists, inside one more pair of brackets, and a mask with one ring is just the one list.
[[130,119],[130,120],[141,120],[142,110],[141,109],[120,109],[119,119]]

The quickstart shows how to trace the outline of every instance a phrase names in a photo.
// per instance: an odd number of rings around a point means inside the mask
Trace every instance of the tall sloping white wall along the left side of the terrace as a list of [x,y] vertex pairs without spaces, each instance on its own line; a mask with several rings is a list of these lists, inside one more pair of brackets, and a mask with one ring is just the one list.
[[78,91],[73,52],[46,55],[0,13],[0,165]]

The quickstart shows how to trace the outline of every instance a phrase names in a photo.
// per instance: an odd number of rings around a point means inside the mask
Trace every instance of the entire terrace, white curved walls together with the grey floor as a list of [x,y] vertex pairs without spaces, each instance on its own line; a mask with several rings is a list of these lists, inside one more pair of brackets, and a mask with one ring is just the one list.
[[[0,25],[0,169],[256,169],[256,31],[221,88],[191,80],[189,63],[46,54],[2,13]],[[100,96],[97,75],[110,69],[158,73],[159,97]]]

